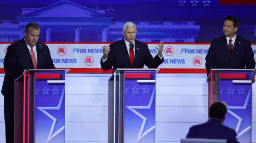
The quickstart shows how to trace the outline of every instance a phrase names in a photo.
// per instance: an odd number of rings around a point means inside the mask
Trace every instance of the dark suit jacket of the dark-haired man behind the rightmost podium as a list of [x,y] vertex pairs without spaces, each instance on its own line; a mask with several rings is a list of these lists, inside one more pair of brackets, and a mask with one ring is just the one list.
[[255,69],[254,53],[250,41],[236,35],[230,59],[226,36],[212,40],[206,55],[206,71],[211,69]]

